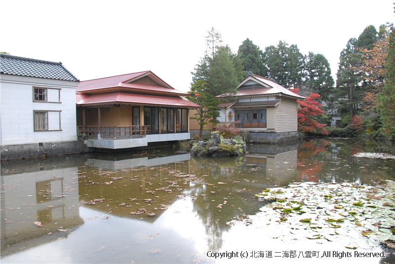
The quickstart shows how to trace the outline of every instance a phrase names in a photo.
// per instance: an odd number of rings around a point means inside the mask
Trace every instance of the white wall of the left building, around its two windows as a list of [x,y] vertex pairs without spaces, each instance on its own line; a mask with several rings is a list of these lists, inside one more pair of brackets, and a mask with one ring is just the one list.
[[[4,74],[0,77],[1,145],[77,140],[76,87],[79,82]],[[48,89],[51,102],[33,102],[34,86],[60,90]],[[60,117],[59,112],[48,112],[49,129],[61,131],[35,132],[34,110],[61,111]]]

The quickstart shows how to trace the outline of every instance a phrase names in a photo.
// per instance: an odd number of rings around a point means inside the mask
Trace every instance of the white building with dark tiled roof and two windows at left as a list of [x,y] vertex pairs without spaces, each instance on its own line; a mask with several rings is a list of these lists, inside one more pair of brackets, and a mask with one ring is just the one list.
[[60,62],[0,54],[1,159],[79,152],[78,84]]

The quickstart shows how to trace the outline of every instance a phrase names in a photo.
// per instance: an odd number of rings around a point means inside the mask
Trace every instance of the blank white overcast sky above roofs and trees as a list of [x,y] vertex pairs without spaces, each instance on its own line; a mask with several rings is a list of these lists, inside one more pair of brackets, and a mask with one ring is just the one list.
[[368,25],[394,22],[393,0],[3,0],[0,51],[61,61],[80,80],[151,70],[189,90],[213,26],[234,52],[249,38],[323,54],[335,78],[340,52]]

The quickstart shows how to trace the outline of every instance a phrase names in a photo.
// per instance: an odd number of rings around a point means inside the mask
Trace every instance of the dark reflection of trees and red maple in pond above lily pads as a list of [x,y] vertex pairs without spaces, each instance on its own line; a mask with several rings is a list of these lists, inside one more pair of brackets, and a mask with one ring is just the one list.
[[357,152],[375,152],[381,148],[380,144],[371,141],[332,140],[330,144],[327,140],[305,142],[298,153],[300,179],[320,182],[347,180],[366,185],[394,179],[391,168],[395,161],[353,156]]

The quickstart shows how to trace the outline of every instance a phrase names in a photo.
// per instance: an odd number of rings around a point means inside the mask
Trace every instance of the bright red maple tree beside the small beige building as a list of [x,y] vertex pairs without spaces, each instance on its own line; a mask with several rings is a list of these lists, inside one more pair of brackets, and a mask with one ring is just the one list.
[[[293,89],[292,92],[297,94],[299,89]],[[298,109],[298,126],[301,132],[322,135],[329,134],[329,132],[323,128],[326,124],[320,124],[316,120],[317,115],[325,113],[320,109],[322,105],[316,101],[320,97],[321,96],[317,93],[311,93],[305,101],[298,100],[298,103],[300,103],[300,109]]]

